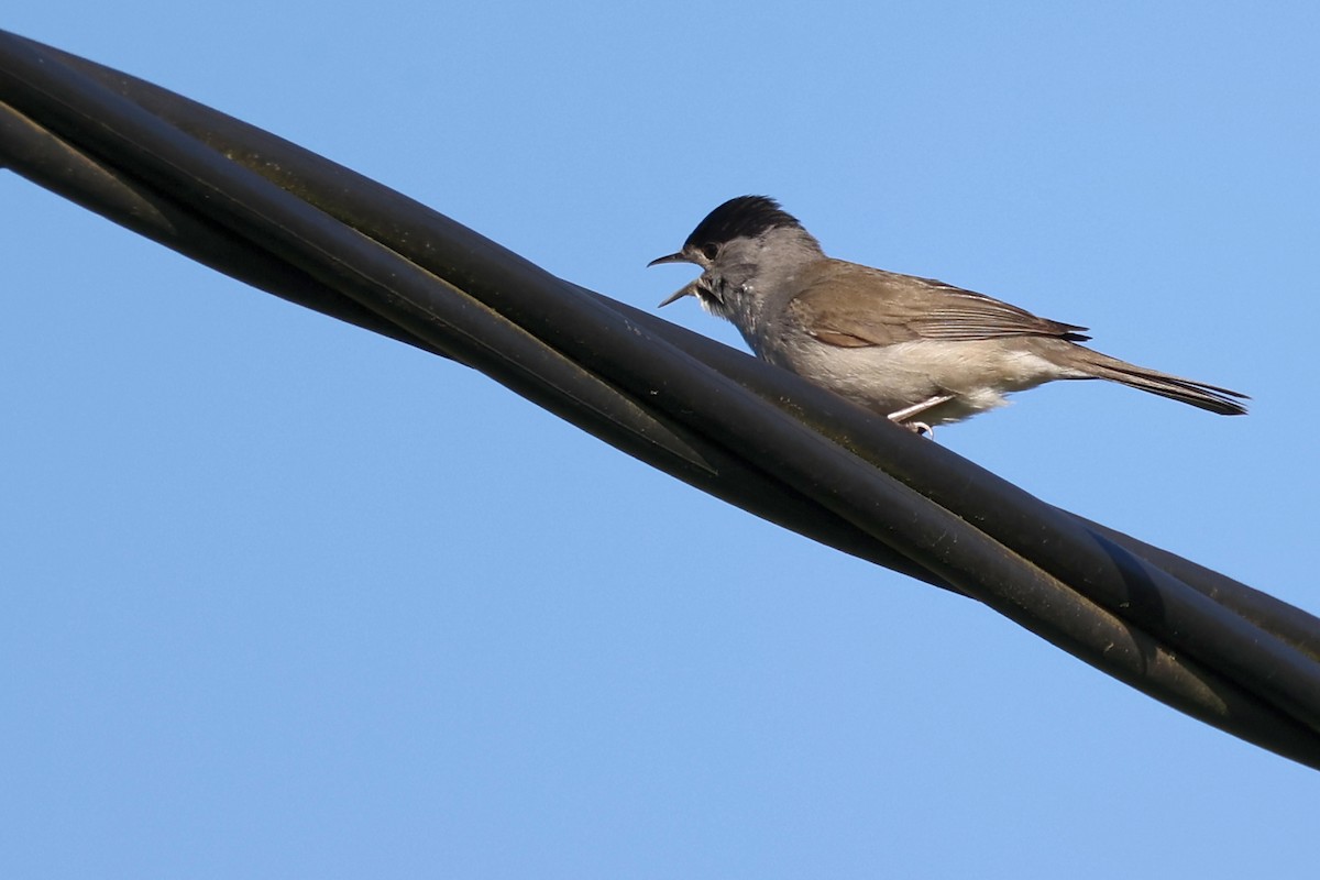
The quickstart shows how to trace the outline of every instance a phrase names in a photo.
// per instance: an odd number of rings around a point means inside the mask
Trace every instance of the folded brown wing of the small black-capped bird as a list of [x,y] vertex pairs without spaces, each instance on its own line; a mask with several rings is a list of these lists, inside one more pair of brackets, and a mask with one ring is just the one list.
[[845,348],[894,346],[915,339],[972,342],[1005,336],[1089,339],[1085,327],[1038,318],[1026,309],[941,281],[871,269],[855,263],[818,264],[801,278],[789,303],[801,326]]

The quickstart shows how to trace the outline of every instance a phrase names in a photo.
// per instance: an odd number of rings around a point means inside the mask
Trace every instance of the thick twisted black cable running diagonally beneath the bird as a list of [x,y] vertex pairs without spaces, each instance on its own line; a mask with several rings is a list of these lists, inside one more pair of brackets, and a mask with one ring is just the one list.
[[564,282],[288,141],[0,33],[0,157],[301,305],[455,358],[624,451],[981,599],[1320,767],[1320,624],[1052,508],[796,376]]

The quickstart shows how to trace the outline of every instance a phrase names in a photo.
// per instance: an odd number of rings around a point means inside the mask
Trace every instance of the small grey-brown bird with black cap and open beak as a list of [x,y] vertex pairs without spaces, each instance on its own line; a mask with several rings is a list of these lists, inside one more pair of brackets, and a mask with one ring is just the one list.
[[676,253],[701,276],[660,303],[694,296],[752,352],[925,435],[1006,396],[1060,379],[1107,379],[1221,416],[1246,394],[1102,355],[1088,327],[1039,318],[973,290],[825,256],[766,195],[711,211]]

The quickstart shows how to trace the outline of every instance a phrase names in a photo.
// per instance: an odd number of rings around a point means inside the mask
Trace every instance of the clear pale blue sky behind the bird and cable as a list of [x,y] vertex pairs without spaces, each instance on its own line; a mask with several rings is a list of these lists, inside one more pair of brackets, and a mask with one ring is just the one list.
[[[883,8],[879,8],[883,5]],[[566,278],[777,197],[1247,418],[940,442],[1320,611],[1313,3],[17,4]],[[1003,7],[1003,4],[999,4]],[[0,875],[1302,876],[1317,776],[0,174]],[[721,339],[692,301],[665,317]]]

